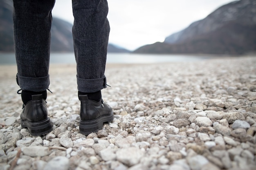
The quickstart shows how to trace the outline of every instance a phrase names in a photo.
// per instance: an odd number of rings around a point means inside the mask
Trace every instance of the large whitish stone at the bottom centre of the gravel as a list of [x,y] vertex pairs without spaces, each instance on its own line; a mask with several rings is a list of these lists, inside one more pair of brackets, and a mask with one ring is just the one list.
[[117,160],[126,164],[127,166],[133,166],[139,163],[139,160],[144,156],[144,152],[135,147],[122,148],[117,150]]

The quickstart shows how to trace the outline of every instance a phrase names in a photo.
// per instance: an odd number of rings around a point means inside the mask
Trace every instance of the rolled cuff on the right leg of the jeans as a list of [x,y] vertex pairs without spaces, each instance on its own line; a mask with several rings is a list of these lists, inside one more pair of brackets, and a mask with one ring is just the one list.
[[76,75],[77,88],[79,92],[94,93],[107,87],[106,76],[96,79],[83,79]]

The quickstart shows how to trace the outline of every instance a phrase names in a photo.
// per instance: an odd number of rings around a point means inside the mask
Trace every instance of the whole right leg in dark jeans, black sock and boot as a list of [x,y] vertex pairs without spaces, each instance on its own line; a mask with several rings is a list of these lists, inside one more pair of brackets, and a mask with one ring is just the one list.
[[81,101],[79,130],[89,134],[113,120],[113,111],[101,99],[106,88],[104,75],[109,23],[107,0],[72,0],[74,52],[77,86]]

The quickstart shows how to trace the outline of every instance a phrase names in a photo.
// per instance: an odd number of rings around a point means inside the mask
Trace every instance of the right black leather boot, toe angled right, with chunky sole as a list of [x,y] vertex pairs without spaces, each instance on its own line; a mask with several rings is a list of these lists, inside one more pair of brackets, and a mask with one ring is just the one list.
[[104,122],[111,122],[114,118],[113,111],[101,99],[99,102],[89,100],[87,95],[79,95],[81,101],[79,130],[83,135],[88,135],[102,128]]

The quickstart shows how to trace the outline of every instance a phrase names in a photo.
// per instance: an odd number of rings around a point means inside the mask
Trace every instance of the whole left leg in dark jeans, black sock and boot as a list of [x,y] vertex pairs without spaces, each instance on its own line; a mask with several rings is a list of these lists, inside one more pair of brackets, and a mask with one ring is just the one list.
[[24,103],[22,128],[31,135],[52,131],[45,99],[49,87],[49,51],[52,8],[55,0],[13,0],[13,33],[17,83]]

